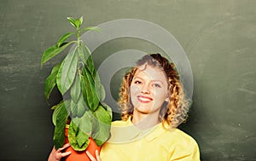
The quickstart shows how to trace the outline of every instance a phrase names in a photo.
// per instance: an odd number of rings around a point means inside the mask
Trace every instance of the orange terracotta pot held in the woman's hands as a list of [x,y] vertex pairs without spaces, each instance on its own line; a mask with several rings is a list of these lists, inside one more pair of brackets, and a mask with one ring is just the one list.
[[[68,142],[67,138],[68,128],[65,129],[66,141]],[[101,147],[97,147],[96,142],[90,137],[90,144],[84,151],[75,151],[73,147],[67,147],[66,152],[72,152],[70,155],[66,157],[66,161],[90,161],[90,158],[87,157],[85,151],[89,151],[95,158],[96,158],[96,150],[100,152]]]

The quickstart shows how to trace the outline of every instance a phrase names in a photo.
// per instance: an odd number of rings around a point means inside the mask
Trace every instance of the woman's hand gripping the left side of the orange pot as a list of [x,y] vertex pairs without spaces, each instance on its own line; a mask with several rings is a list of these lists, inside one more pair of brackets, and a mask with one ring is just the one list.
[[62,150],[66,149],[67,147],[70,147],[70,144],[67,143],[63,147],[59,149],[55,149],[55,147],[52,148],[52,151],[49,154],[48,161],[60,161],[62,157],[66,157],[67,155],[70,155],[71,152],[61,152]]

